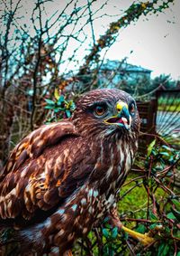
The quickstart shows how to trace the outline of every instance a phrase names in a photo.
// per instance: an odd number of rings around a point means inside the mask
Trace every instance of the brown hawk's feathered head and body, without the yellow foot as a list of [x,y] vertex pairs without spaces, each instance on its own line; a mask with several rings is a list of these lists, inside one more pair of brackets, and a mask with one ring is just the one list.
[[0,175],[1,225],[14,227],[21,255],[62,255],[113,213],[138,135],[135,101],[104,89],[82,96],[70,119],[23,138]]

